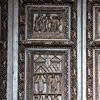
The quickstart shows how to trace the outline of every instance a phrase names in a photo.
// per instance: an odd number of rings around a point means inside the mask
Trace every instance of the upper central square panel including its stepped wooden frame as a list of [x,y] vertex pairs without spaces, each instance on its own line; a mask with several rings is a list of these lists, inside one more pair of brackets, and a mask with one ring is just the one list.
[[26,40],[70,39],[70,6],[26,6]]

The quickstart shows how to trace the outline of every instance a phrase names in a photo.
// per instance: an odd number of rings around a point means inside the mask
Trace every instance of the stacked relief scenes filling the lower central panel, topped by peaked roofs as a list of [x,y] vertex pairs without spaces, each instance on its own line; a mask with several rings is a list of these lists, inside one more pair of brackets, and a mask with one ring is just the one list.
[[[33,81],[29,86],[32,89],[30,91],[33,91],[31,96],[34,100],[62,100],[63,96],[68,93],[68,81],[66,81],[68,71],[64,69],[66,69],[66,60],[69,59],[66,59],[67,56],[62,53],[42,54],[35,52],[31,56],[33,62],[30,62],[32,63],[30,70],[33,71],[29,76],[32,76]],[[67,55],[67,52],[65,55]],[[62,59],[65,59],[65,61]],[[66,88],[66,91],[64,91],[64,88]]]

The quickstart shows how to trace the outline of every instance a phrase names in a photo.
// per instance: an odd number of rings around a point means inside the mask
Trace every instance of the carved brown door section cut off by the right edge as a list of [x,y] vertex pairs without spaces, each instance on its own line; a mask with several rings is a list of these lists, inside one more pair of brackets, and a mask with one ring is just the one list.
[[[88,1],[87,100],[100,99],[100,1]],[[92,23],[92,24],[91,24]]]

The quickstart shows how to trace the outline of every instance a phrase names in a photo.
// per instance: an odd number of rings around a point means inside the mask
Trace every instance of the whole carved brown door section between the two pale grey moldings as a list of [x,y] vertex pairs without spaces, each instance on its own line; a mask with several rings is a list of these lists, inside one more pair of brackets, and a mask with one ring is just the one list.
[[77,99],[76,4],[20,0],[18,100]]

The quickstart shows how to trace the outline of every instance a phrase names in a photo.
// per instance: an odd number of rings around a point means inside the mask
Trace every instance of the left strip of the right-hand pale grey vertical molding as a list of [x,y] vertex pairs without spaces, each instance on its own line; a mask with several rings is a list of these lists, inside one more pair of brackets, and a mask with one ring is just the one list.
[[77,100],[82,100],[82,0],[77,0]]

